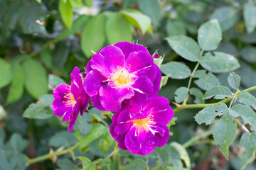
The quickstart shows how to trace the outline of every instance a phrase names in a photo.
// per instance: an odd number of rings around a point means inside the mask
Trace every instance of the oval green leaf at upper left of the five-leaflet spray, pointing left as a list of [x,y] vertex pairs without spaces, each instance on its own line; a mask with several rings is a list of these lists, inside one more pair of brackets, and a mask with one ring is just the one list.
[[197,62],[200,57],[200,48],[196,41],[184,35],[166,38],[172,49],[186,60]]

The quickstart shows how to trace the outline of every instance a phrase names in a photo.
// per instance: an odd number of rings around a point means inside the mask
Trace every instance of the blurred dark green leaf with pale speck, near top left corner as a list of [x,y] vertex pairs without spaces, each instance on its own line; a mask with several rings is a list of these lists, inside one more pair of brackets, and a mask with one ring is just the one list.
[[47,35],[46,28],[37,21],[44,21],[46,18],[46,8],[42,4],[36,2],[22,3],[18,11],[18,21],[21,25],[23,33],[33,34],[40,33]]

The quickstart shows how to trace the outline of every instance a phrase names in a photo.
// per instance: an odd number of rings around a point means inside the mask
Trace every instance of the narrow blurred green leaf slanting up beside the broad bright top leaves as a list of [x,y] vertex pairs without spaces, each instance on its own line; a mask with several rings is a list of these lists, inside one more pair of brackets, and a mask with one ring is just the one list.
[[71,28],[65,28],[61,33],[57,36],[56,40],[65,40],[70,35],[73,35],[78,32],[78,30],[82,30],[85,27],[85,23],[89,20],[89,16],[79,16],[74,23],[72,24]]

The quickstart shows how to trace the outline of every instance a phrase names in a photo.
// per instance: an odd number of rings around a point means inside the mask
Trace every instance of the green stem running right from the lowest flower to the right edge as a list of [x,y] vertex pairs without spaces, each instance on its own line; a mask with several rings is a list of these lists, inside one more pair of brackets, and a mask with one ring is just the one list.
[[[252,86],[248,89],[245,89],[244,91],[255,91],[256,90],[256,86]],[[216,103],[208,103],[208,104],[188,104],[188,105],[181,105],[177,108],[174,109],[174,113],[177,113],[178,111],[184,110],[184,109],[188,109],[188,108],[206,108],[206,106],[210,106],[210,105],[217,105],[218,103],[228,103],[228,101],[231,101],[234,97],[232,98],[225,98],[222,101],[216,102]]]

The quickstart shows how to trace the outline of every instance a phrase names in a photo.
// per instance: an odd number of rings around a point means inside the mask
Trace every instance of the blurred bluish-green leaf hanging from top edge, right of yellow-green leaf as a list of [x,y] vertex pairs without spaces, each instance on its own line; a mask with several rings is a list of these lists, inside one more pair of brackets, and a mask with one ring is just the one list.
[[154,25],[159,25],[161,6],[158,0],[139,0],[139,9],[151,18]]

